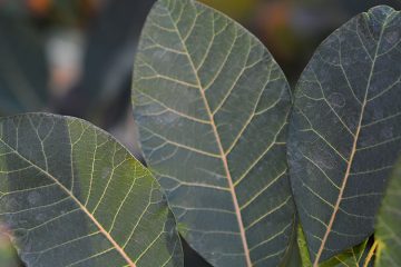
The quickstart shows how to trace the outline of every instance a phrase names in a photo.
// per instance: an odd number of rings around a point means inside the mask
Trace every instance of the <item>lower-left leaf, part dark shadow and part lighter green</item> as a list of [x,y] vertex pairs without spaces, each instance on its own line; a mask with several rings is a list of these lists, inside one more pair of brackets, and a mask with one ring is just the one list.
[[183,266],[156,179],[90,123],[0,119],[0,222],[28,266]]

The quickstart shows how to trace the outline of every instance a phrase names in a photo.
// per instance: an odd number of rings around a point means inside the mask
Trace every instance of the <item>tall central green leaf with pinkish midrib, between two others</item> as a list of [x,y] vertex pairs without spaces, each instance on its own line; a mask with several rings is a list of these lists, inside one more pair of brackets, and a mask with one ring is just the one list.
[[265,47],[226,16],[160,0],[134,67],[134,115],[188,244],[214,266],[276,266],[294,208],[290,88]]

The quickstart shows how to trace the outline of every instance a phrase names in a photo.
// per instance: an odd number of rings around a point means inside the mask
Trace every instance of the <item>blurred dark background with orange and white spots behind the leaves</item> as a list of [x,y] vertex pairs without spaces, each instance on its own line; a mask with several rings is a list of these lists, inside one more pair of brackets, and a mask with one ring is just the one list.
[[[256,34],[292,87],[319,43],[353,16],[401,0],[202,0]],[[70,115],[140,157],[130,108],[136,43],[154,0],[0,0],[0,116]],[[0,267],[23,266],[0,226]],[[186,266],[208,266],[185,245]]]

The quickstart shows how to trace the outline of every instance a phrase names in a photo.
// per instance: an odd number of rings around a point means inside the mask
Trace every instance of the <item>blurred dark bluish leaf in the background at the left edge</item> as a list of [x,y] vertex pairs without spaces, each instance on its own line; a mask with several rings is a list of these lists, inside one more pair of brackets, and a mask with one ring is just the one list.
[[40,111],[47,102],[43,43],[28,24],[0,14],[0,116]]

